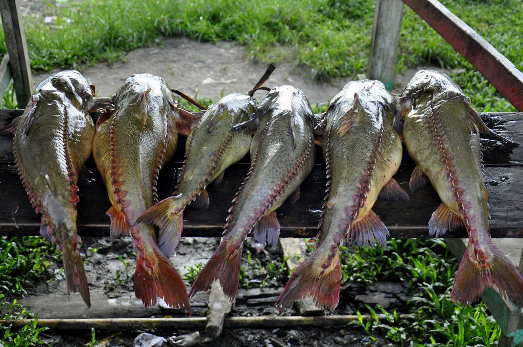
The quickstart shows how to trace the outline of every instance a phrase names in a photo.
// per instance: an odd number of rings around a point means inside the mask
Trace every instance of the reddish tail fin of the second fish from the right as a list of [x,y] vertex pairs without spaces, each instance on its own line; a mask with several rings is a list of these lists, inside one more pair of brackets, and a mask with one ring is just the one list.
[[321,273],[323,265],[318,264],[318,254],[317,251],[312,253],[292,272],[276,301],[275,306],[278,310],[285,310],[305,297],[312,297],[314,304],[327,313],[332,313],[338,306],[342,281],[338,252],[326,267],[324,274]]

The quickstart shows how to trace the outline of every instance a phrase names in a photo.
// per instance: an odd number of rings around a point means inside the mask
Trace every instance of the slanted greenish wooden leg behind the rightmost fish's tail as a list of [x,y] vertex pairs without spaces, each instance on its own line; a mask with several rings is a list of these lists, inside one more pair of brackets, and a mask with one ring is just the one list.
[[[497,241],[494,240],[495,244],[498,244]],[[446,242],[454,257],[461,259],[468,239],[448,239]],[[501,249],[506,252],[505,249]],[[517,265],[519,258],[514,263]],[[521,310],[516,305],[499,296],[492,288],[486,289],[481,298],[506,336],[523,329]]]

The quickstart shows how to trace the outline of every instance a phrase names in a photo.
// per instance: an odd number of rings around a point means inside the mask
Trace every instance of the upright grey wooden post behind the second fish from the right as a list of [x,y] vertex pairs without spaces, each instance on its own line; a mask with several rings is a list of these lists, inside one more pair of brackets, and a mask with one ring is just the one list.
[[403,3],[400,0],[376,0],[367,76],[380,80],[389,90],[394,84],[402,19]]

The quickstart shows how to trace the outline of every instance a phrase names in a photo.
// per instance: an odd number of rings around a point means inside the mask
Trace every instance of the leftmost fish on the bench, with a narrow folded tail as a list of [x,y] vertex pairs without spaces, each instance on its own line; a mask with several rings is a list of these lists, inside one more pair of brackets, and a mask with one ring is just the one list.
[[40,82],[10,126],[18,173],[32,207],[42,214],[40,234],[62,250],[67,295],[78,291],[87,307],[89,286],[76,227],[77,182],[93,148],[89,112],[111,107],[109,98],[94,97],[79,72],[62,71]]

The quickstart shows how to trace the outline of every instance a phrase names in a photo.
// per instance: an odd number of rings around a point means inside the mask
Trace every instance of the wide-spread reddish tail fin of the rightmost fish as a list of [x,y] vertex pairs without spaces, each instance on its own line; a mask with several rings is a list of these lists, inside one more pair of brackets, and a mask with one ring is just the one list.
[[[469,241],[470,242],[470,241]],[[470,304],[479,299],[485,288],[492,287],[499,295],[523,307],[523,275],[492,242],[488,241],[492,260],[482,269],[472,258],[467,247],[456,272],[450,298],[454,302]]]

